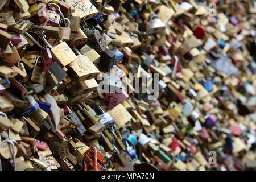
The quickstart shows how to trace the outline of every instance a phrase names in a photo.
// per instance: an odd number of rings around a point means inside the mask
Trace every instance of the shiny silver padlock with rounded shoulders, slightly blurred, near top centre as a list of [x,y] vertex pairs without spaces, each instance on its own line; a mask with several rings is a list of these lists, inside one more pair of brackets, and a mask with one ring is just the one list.
[[153,14],[150,16],[147,33],[158,34],[166,29],[166,24],[162,22],[158,15]]

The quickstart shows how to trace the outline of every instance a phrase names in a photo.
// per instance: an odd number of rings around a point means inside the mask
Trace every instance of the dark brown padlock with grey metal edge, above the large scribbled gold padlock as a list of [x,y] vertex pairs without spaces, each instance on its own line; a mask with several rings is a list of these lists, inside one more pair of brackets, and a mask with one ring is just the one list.
[[105,51],[106,44],[98,30],[85,30],[85,35],[88,37],[88,44],[96,51]]

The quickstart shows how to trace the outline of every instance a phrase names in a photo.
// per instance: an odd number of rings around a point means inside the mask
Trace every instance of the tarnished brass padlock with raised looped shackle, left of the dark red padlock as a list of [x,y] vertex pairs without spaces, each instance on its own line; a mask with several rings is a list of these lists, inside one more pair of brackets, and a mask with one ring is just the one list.
[[37,82],[39,84],[45,85],[47,73],[43,72],[43,69],[37,65],[39,59],[42,59],[43,62],[45,62],[43,56],[38,56],[38,58],[36,58],[36,63],[34,65],[32,73],[31,73],[30,80]]

